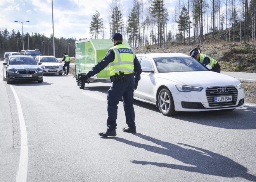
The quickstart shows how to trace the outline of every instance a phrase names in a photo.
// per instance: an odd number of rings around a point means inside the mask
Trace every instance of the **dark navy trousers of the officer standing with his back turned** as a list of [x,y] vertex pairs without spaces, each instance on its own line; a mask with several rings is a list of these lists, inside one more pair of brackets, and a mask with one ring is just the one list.
[[118,103],[123,96],[126,124],[130,129],[135,128],[135,113],[133,108],[133,89],[135,85],[134,77],[126,78],[124,82],[113,82],[107,92],[107,131],[116,129],[116,118],[118,114]]

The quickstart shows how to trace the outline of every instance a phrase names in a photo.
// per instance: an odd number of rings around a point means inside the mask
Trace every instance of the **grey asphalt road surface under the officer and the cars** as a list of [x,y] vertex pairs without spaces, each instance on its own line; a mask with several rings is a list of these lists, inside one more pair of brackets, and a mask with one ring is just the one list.
[[0,181],[16,180],[24,147],[28,182],[256,181],[256,107],[166,117],[135,100],[138,133],[129,134],[120,102],[117,136],[101,138],[109,87],[80,90],[72,75],[44,76],[43,83],[0,80]]

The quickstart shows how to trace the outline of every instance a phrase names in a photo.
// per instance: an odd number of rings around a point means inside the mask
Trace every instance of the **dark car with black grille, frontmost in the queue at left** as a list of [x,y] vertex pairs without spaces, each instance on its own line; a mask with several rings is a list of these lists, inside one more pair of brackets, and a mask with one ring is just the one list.
[[[42,63],[41,63],[42,64]],[[43,82],[43,71],[31,56],[9,56],[3,63],[3,81],[7,84],[12,81],[38,81]]]

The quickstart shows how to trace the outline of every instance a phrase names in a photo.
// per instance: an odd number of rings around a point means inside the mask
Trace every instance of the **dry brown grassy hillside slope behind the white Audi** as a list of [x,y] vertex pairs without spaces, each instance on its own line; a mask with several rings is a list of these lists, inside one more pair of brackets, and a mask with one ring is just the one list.
[[[184,53],[189,55],[193,46],[171,43],[163,48],[150,46],[149,49],[133,48],[135,53]],[[202,53],[216,59],[221,71],[256,72],[255,43],[214,43],[200,46]]]

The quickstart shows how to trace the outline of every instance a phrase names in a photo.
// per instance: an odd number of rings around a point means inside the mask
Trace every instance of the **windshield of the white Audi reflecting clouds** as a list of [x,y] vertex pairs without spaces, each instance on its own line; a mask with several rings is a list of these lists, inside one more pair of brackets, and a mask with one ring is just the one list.
[[192,57],[154,58],[159,73],[183,71],[208,71],[199,61]]

